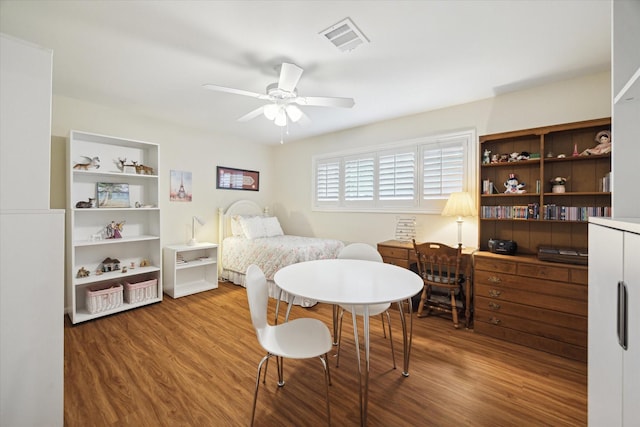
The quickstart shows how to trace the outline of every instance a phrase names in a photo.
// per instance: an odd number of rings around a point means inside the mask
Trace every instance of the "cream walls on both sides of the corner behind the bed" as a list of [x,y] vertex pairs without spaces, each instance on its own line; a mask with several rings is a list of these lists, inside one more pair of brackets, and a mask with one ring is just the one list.
[[[276,146],[234,141],[127,111],[54,96],[52,159],[59,164],[52,165],[52,200],[56,199],[56,194],[58,200],[60,194],[65,194],[64,156],[59,152],[64,150],[61,146],[69,130],[77,129],[160,144],[160,192],[166,194],[160,202],[163,245],[188,240],[192,215],[209,221],[197,228],[197,238],[217,241],[217,208],[226,207],[240,198],[268,205],[287,233],[375,244],[394,237],[397,215],[313,212],[313,155],[460,129],[475,128],[480,136],[609,117],[610,77],[608,72],[599,73]],[[260,171],[260,191],[216,190],[217,165]],[[169,202],[171,169],[193,173],[193,202]],[[417,226],[420,240],[456,243],[457,226],[452,217],[417,215]],[[467,218],[463,226],[463,243],[477,246],[477,239],[477,219]]]

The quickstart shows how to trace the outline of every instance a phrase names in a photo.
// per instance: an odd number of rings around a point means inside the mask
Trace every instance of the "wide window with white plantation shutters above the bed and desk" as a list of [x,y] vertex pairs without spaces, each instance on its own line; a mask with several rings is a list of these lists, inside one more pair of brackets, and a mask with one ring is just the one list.
[[475,131],[313,158],[315,210],[439,213],[475,182]]

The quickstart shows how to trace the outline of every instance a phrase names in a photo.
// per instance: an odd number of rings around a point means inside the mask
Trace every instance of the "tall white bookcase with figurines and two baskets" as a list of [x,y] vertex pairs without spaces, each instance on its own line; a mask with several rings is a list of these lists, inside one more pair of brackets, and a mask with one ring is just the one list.
[[[87,160],[93,158],[99,162]],[[150,169],[122,167],[120,160]],[[73,323],[162,300],[158,165],[157,144],[71,131],[67,310]],[[89,199],[91,207],[76,207]],[[114,231],[110,224],[122,229]],[[143,292],[146,297],[127,298],[128,286],[150,281],[155,287]],[[98,292],[108,288],[113,293]]]

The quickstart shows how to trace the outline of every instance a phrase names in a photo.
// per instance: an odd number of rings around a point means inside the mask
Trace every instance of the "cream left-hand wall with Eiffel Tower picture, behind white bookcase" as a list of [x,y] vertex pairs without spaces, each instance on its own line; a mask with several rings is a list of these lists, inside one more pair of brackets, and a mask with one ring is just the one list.
[[[191,238],[191,217],[205,219],[196,225],[199,241],[217,242],[217,210],[231,202],[248,198],[268,204],[273,185],[273,161],[269,147],[211,135],[172,123],[90,104],[76,99],[54,96],[52,118],[52,207],[66,208],[64,150],[71,129],[160,144],[161,240],[166,246],[186,243]],[[247,153],[250,153],[249,155]],[[90,155],[90,153],[87,153]],[[118,153],[113,158],[117,159]],[[113,159],[101,159],[102,163]],[[260,191],[216,189],[216,166],[260,171]],[[170,170],[190,171],[193,178],[193,201],[169,201]],[[75,205],[77,200],[72,200]],[[67,205],[71,205],[67,203]],[[117,219],[117,218],[116,218]],[[126,226],[125,226],[126,233]]]

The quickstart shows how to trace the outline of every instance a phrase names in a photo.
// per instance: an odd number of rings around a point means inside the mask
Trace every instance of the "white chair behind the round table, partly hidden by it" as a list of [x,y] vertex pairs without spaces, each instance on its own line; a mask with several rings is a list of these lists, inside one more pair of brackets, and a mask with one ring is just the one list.
[[[375,262],[383,262],[382,255],[371,245],[367,245],[366,243],[351,243],[350,245],[342,248],[340,253],[338,254],[338,258],[341,259],[361,259],[365,261],[375,261]],[[340,305],[340,313],[337,313],[337,306],[334,305],[334,322],[338,321],[337,328],[337,339],[334,341],[337,342],[338,350],[336,355],[336,368],[340,366],[340,341],[342,338],[342,318],[344,316],[344,312],[347,311],[351,313],[353,316],[354,313],[351,312],[351,306],[348,305]],[[383,304],[371,304],[369,305],[369,317],[380,315],[382,319],[382,332],[384,333],[384,337],[387,337],[387,333],[385,332],[384,325],[384,317],[387,317],[387,324],[389,327],[389,343],[391,344],[391,359],[393,360],[393,369],[396,369],[396,356],[393,351],[393,337],[391,336],[391,316],[389,315],[389,307],[391,307],[390,303]],[[364,307],[363,306],[355,306],[355,315],[356,316],[364,316]],[[335,325],[335,323],[334,323]],[[335,334],[334,327],[334,334]]]

